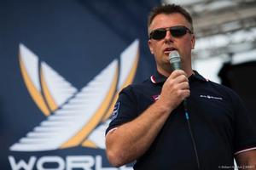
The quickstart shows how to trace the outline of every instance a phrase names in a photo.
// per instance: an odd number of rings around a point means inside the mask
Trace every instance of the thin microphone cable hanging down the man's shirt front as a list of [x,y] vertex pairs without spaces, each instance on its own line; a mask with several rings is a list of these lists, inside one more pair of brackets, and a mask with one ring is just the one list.
[[193,149],[194,149],[194,152],[195,152],[197,168],[198,168],[198,170],[201,170],[201,165],[200,165],[200,161],[199,161],[198,151],[197,151],[196,144],[195,144],[195,137],[194,137],[194,133],[193,133],[193,131],[191,129],[191,125],[190,125],[187,99],[183,100],[183,108],[184,108],[184,111],[185,111],[186,121],[187,121],[187,124],[188,124],[188,127],[189,127],[189,134],[190,134],[190,137],[191,137],[191,140],[192,140]]

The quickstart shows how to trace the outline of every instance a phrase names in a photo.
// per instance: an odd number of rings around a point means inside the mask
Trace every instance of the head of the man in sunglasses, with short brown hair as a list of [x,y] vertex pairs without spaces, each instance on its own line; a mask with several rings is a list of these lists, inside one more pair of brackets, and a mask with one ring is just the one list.
[[177,50],[182,68],[191,72],[191,50],[195,46],[193,21],[190,14],[175,4],[161,5],[148,15],[148,47],[154,54],[157,69],[168,75],[171,72],[168,54]]

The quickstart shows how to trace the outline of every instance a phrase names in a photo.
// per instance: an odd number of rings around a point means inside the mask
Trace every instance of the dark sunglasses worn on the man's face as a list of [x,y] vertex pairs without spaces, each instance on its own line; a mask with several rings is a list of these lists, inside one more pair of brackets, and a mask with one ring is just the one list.
[[193,34],[186,26],[172,26],[169,28],[159,28],[149,33],[149,38],[160,40],[166,37],[166,31],[170,31],[172,37],[183,37],[187,32]]

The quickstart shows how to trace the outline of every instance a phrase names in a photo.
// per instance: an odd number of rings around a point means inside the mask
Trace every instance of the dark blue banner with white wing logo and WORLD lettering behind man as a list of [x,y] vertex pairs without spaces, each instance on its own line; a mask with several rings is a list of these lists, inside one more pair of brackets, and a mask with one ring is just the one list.
[[119,90],[155,69],[147,15],[159,1],[1,1],[0,169],[111,167]]

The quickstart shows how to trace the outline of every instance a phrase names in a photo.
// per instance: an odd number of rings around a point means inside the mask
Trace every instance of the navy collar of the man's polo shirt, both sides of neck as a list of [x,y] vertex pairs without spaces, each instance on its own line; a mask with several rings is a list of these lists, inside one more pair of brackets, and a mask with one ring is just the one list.
[[[195,74],[189,77],[189,81],[199,80],[202,82],[208,82],[208,80],[205,77],[202,77],[197,71],[194,71],[194,73]],[[154,75],[150,77],[151,82],[153,82],[154,84],[166,82],[166,79],[167,77],[161,75],[158,71],[155,71]]]

